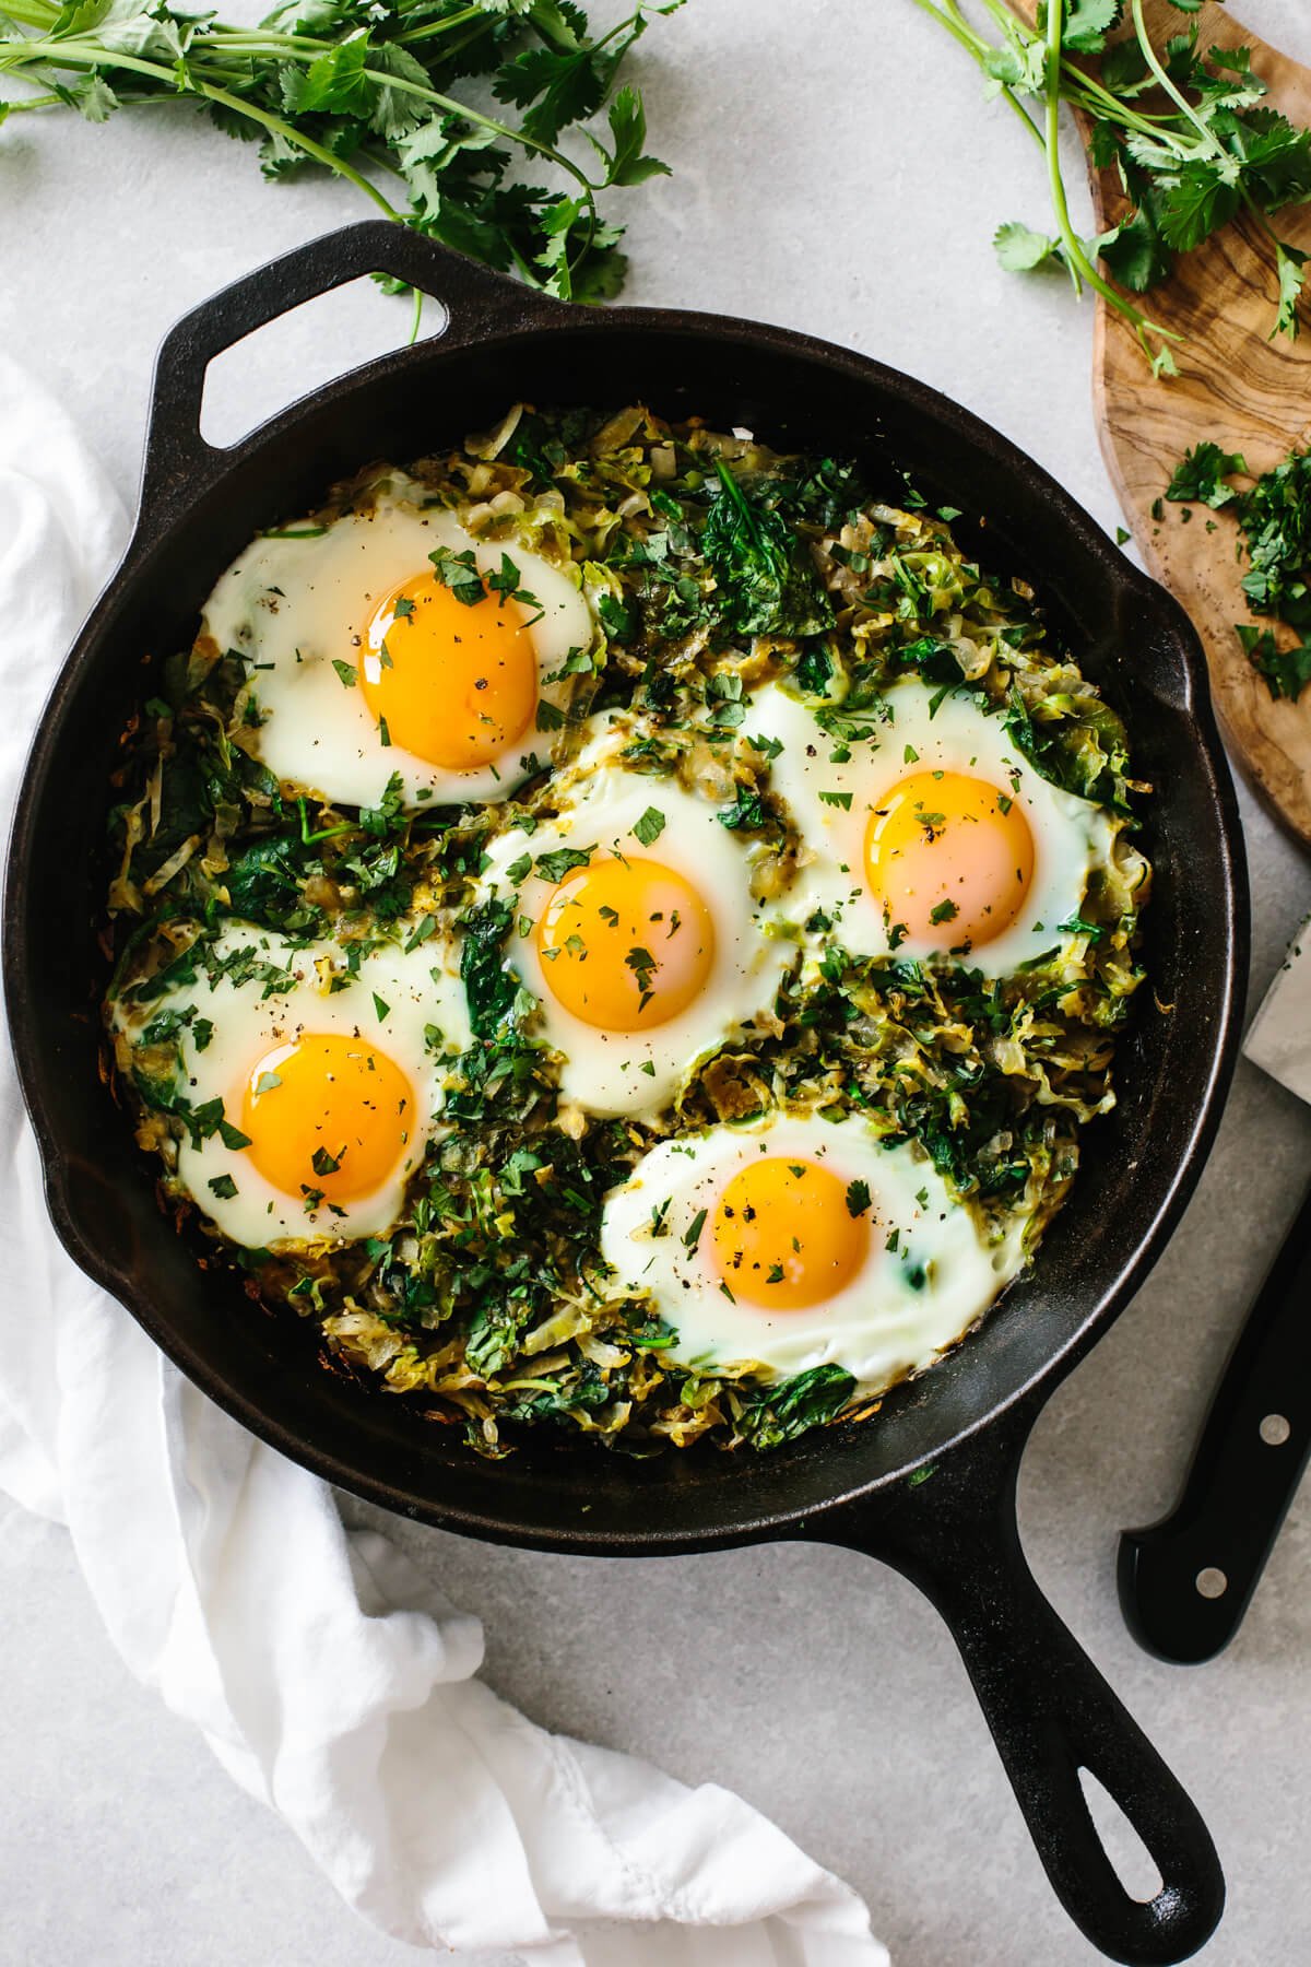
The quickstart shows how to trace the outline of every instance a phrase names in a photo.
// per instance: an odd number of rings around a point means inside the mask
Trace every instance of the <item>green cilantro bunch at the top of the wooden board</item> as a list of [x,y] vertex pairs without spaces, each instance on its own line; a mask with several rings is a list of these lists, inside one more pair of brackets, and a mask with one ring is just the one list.
[[[959,0],[916,0],[987,77],[1046,151],[1055,234],[1024,224],[997,232],[1004,268],[1030,271],[1052,262],[1069,273],[1075,293],[1093,287],[1124,315],[1156,376],[1177,374],[1171,342],[1128,293],[1148,293],[1169,275],[1173,258],[1191,252],[1240,212],[1270,238],[1280,299],[1274,334],[1297,334],[1305,254],[1282,240],[1270,214],[1311,199],[1311,130],[1295,128],[1264,102],[1266,83],[1252,73],[1250,47],[1199,49],[1201,0],[1173,0],[1179,33],[1158,49],[1142,0],[1048,0],[1040,30],[1022,26],[1004,0],[981,0],[1000,37],[987,39]],[[1114,31],[1128,24],[1122,37]],[[1101,57],[1089,67],[1089,57]],[[1032,116],[1026,96],[1038,98]],[[1081,240],[1069,218],[1059,161],[1059,108],[1067,102],[1091,130],[1099,169],[1114,169],[1126,214],[1111,232]],[[1097,262],[1118,287],[1099,271]]]

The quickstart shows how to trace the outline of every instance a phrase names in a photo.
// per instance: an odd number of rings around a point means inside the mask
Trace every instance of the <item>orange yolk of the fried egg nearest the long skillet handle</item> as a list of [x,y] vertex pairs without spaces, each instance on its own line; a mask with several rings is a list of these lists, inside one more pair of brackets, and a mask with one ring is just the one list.
[[753,1161],[719,1196],[704,1243],[735,1298],[804,1312],[835,1296],[869,1255],[869,1216],[814,1161]]

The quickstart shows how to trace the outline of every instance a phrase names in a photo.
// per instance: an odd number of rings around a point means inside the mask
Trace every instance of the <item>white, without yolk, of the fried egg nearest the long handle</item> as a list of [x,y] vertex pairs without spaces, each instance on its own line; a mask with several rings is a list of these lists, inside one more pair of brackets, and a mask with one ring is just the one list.
[[[869,1184],[867,1263],[826,1304],[770,1312],[733,1300],[706,1253],[719,1196],[763,1157],[814,1161],[843,1184]],[[696,1233],[702,1210],[706,1227]],[[863,1393],[930,1365],[1024,1265],[1020,1225],[985,1247],[973,1216],[918,1145],[883,1147],[859,1113],[839,1121],[782,1115],[662,1141],[605,1198],[601,1255],[613,1267],[615,1294],[645,1294],[678,1334],[668,1359],[717,1371],[765,1367],[780,1379],[839,1365]]]

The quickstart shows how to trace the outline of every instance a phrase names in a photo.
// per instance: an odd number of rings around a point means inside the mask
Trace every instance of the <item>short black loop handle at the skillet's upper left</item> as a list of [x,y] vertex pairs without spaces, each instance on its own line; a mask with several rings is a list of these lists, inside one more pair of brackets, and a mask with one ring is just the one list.
[[446,313],[440,332],[454,344],[568,313],[562,301],[491,273],[476,260],[389,218],[326,232],[246,273],[183,315],[165,334],[155,358],[145,433],[142,523],[167,523],[175,507],[195,500],[197,490],[230,462],[230,452],[200,437],[204,372],[214,356],[303,301],[344,287],[362,273],[387,273],[440,301]]

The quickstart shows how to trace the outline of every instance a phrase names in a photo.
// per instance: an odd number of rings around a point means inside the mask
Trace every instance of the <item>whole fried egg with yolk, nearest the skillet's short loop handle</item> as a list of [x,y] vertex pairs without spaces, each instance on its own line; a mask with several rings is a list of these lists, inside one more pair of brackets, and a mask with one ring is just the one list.
[[336,805],[377,805],[393,773],[407,805],[505,799],[550,757],[562,671],[594,643],[572,568],[427,498],[393,474],[358,511],[267,533],[204,604],[200,633],[252,669],[252,749]]

